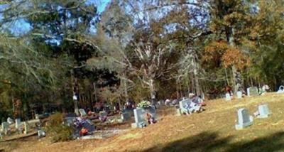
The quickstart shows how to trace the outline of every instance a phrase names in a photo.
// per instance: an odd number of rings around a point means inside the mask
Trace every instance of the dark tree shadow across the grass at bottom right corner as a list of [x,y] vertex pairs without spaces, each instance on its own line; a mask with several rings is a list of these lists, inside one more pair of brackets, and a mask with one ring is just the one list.
[[284,151],[284,131],[251,141],[230,143],[233,138],[234,136],[222,138],[217,132],[204,132],[145,151]]

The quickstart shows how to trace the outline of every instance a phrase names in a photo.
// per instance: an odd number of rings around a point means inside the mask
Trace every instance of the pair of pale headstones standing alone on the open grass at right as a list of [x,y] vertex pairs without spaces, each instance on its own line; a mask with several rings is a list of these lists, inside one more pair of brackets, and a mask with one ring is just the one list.
[[[268,104],[261,104],[258,106],[258,111],[255,116],[258,118],[267,118],[271,114],[268,109]],[[238,124],[235,125],[236,129],[244,129],[246,126],[253,124],[253,116],[249,115],[247,109],[241,108],[238,110]]]

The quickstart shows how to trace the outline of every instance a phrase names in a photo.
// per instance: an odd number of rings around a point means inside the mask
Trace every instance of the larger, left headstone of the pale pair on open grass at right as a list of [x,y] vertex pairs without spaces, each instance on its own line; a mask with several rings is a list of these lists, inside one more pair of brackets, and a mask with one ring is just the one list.
[[235,128],[237,130],[244,129],[246,126],[251,126],[253,124],[253,116],[249,115],[247,109],[241,108],[238,110],[238,124],[236,124]]

